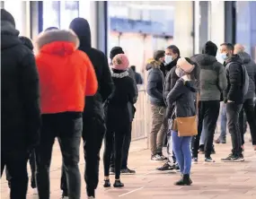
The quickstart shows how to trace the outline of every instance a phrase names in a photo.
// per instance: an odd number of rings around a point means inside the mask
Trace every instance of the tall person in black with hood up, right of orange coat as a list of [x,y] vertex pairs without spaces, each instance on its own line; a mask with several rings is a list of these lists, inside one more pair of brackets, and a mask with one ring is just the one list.
[[[83,117],[84,160],[86,162],[84,179],[87,185],[87,195],[95,197],[94,192],[99,182],[100,151],[106,131],[103,103],[112,93],[114,84],[107,56],[102,51],[92,48],[89,23],[84,18],[75,18],[69,28],[75,31],[80,40],[79,49],[89,56],[99,84],[97,93],[93,97],[85,98]],[[63,194],[66,196],[66,193]]]

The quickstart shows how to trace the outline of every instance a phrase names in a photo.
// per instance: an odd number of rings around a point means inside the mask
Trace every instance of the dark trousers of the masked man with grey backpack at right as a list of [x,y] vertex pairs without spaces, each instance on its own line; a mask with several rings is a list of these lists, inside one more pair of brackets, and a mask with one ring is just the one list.
[[234,102],[226,104],[227,127],[231,134],[232,152],[235,156],[241,155],[243,151],[239,128],[239,114],[242,107],[242,104],[235,104]]

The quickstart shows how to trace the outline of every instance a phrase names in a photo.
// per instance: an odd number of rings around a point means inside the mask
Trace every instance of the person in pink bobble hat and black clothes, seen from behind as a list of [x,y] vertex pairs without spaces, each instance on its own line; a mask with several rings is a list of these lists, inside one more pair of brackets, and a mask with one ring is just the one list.
[[110,156],[113,147],[115,148],[115,183],[113,186],[124,186],[120,181],[120,169],[125,137],[130,133],[128,102],[134,104],[136,97],[134,82],[128,76],[128,65],[128,57],[124,54],[114,56],[112,60],[115,91],[111,94],[106,106],[107,133],[103,154],[104,187],[110,187]]

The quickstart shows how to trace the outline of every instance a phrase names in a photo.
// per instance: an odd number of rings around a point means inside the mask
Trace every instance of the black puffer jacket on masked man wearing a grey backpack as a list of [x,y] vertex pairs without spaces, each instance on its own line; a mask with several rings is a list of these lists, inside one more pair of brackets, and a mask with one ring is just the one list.
[[234,55],[225,61],[224,65],[233,62],[226,70],[227,88],[224,91],[224,100],[243,104],[243,61],[238,55]]

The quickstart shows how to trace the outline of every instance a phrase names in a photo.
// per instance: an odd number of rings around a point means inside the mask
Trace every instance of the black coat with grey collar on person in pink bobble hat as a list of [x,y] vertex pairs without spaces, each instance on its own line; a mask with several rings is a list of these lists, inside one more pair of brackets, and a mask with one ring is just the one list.
[[106,108],[107,128],[110,131],[128,127],[131,122],[128,103],[133,105],[136,102],[136,91],[134,82],[128,75],[128,71],[113,69],[115,91],[111,94]]

